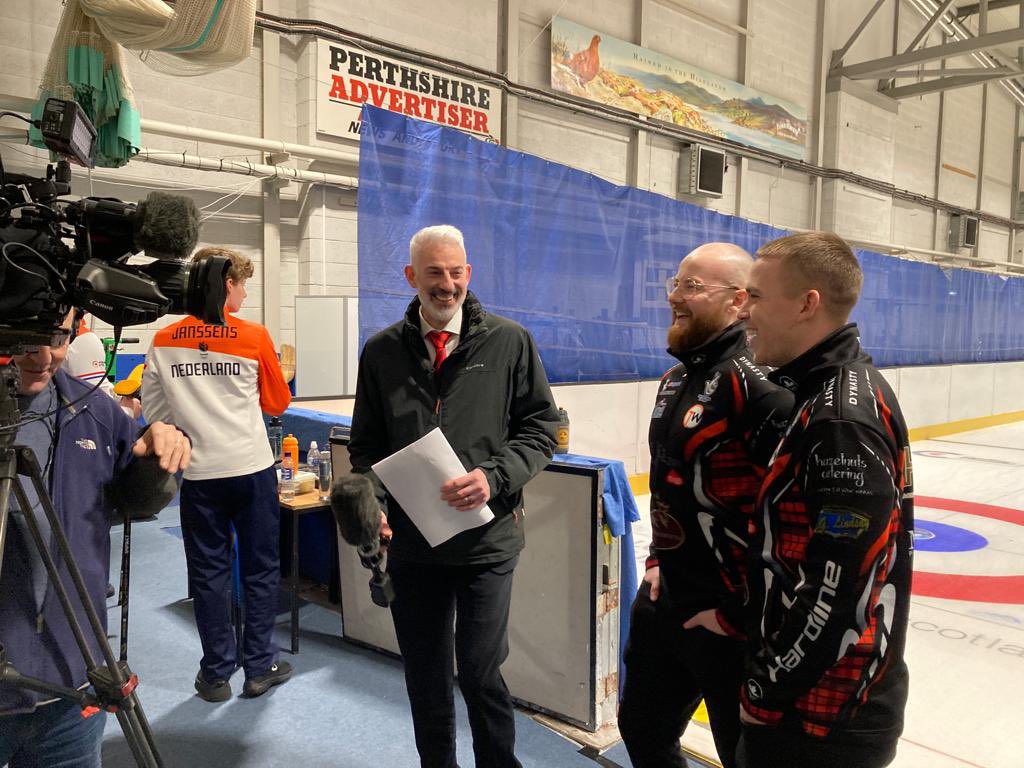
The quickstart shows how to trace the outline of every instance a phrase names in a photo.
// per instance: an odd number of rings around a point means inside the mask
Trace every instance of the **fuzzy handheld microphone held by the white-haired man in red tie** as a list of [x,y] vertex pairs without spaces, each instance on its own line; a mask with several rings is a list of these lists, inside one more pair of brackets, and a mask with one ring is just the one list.
[[381,509],[370,478],[348,474],[335,480],[331,487],[331,511],[341,538],[355,547],[362,567],[373,571],[371,599],[387,607],[394,601],[394,588],[383,567],[386,550],[381,548]]

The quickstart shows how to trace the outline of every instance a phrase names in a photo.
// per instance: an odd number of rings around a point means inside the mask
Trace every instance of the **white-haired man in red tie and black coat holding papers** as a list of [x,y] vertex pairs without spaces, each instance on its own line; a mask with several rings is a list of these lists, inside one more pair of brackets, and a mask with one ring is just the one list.
[[[410,242],[406,278],[418,297],[404,319],[371,338],[359,360],[352,468],[439,427],[469,471],[436,493],[456,509],[487,504],[490,522],[431,548],[386,497],[391,605],[424,768],[456,768],[453,653],[478,768],[518,768],[508,655],[512,571],[523,548],[522,487],[547,466],[558,413],[529,334],[467,291],[462,232],[440,225]],[[454,626],[454,633],[453,633]]]

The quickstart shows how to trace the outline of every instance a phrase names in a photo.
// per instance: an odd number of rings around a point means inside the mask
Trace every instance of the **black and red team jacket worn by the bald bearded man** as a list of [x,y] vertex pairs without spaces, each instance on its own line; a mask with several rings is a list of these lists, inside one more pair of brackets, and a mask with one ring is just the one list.
[[739,323],[679,359],[651,414],[647,567],[660,566],[681,621],[716,608],[738,637],[751,515],[793,395],[751,362]]

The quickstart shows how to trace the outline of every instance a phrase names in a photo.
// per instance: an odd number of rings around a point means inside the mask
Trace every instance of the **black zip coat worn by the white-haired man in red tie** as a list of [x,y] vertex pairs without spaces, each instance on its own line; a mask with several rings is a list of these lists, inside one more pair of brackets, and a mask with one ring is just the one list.
[[440,427],[466,471],[479,468],[486,475],[495,519],[431,548],[374,477],[394,531],[390,556],[476,564],[518,553],[524,545],[522,486],[551,461],[557,425],[544,366],[524,328],[484,311],[467,292],[459,345],[435,374],[420,335],[420,300],[414,299],[406,317],[371,338],[359,358],[348,444],[352,469],[373,475],[378,461]]

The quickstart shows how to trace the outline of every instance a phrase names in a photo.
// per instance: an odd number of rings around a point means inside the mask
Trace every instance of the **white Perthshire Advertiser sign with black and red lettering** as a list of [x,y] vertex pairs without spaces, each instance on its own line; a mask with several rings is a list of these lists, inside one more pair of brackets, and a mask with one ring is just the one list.
[[316,43],[316,131],[358,139],[364,103],[501,142],[502,94],[464,80],[327,40]]

